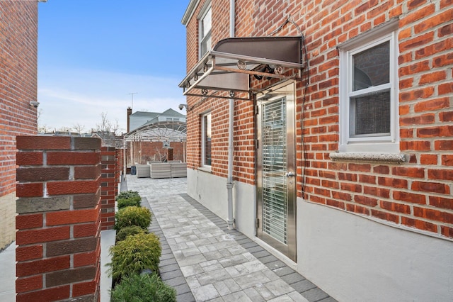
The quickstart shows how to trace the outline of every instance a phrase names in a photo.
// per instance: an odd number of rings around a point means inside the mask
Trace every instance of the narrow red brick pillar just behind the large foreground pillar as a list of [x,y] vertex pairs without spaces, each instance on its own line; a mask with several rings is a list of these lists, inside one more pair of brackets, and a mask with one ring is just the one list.
[[101,158],[101,230],[113,230],[117,194],[115,147],[102,147]]

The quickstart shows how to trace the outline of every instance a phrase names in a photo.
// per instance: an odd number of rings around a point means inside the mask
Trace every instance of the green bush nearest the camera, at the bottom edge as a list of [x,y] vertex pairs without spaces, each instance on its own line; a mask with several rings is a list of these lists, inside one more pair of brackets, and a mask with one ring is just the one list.
[[112,291],[112,302],[176,302],[176,290],[157,274],[133,274]]

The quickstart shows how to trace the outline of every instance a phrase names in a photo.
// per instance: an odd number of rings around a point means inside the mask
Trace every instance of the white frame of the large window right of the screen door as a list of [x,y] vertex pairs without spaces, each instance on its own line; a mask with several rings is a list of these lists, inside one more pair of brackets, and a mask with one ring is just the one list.
[[[389,22],[338,47],[340,51],[340,145],[339,152],[399,152],[398,121],[398,23]],[[352,56],[389,41],[389,83],[352,91]],[[389,135],[350,135],[350,97],[390,89]]]

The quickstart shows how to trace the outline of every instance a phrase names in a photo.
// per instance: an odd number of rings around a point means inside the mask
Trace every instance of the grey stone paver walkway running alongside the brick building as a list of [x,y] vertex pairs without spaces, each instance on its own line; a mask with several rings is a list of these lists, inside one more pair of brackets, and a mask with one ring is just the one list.
[[[127,186],[126,186],[127,185]],[[322,301],[335,299],[186,194],[187,179],[127,175],[161,237],[161,278],[178,301]]]

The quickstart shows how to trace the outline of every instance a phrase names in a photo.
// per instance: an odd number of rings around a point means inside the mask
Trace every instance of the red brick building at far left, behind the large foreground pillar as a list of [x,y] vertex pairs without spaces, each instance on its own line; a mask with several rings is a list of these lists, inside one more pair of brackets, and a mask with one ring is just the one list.
[[0,250],[15,239],[16,135],[38,129],[38,1],[0,1]]

